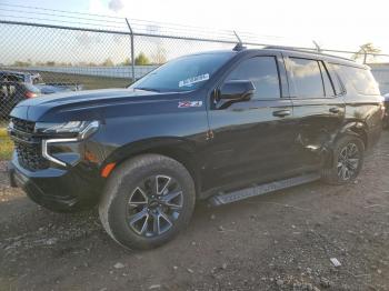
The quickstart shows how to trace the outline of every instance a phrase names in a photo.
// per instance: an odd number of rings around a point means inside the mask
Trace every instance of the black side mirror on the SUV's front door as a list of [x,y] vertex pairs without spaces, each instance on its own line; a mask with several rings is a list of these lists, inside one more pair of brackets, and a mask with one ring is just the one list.
[[223,83],[218,92],[218,99],[225,101],[250,100],[256,87],[249,80],[231,80]]

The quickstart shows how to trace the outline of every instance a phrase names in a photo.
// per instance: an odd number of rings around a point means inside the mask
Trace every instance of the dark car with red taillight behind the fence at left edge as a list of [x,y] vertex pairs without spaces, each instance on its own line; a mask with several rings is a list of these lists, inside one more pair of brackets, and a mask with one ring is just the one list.
[[8,119],[11,110],[20,101],[36,98],[40,94],[40,90],[30,83],[0,81],[0,120]]

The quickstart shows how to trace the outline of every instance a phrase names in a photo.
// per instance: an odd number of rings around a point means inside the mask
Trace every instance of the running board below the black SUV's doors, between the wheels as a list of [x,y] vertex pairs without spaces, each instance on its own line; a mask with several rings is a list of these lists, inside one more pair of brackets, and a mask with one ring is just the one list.
[[280,180],[280,181],[270,182],[270,183],[260,184],[260,185],[253,185],[251,188],[237,190],[230,193],[216,194],[211,197],[209,201],[215,207],[223,205],[223,204],[232,203],[247,198],[262,195],[273,191],[287,189],[290,187],[313,182],[319,179],[320,179],[319,173],[309,173],[305,175],[298,175],[286,180]]

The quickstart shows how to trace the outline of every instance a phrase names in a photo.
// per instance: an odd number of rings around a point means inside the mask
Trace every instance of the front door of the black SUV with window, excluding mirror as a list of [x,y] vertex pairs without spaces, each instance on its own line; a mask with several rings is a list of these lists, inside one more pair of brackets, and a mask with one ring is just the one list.
[[211,98],[210,141],[205,187],[247,184],[282,178],[290,170],[293,140],[292,103],[280,53],[249,56],[233,66],[219,83],[251,80],[249,101],[220,107]]

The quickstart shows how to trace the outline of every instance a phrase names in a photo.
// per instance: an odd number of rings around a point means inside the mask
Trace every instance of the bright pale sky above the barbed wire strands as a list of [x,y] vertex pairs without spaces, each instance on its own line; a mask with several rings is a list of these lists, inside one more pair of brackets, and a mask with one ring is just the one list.
[[[389,52],[388,8],[383,0],[0,0],[3,3],[112,14],[132,19],[250,31],[286,42],[357,50],[373,42]],[[289,44],[286,43],[286,44]],[[293,43],[291,43],[293,44]]]

